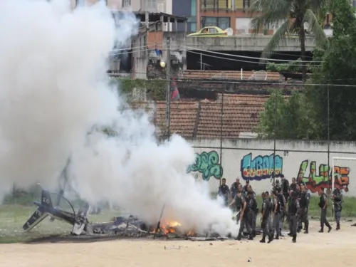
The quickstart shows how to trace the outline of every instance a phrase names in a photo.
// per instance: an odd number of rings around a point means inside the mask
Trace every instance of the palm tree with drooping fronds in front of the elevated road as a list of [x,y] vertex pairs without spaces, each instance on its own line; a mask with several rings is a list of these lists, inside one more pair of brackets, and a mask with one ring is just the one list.
[[[318,18],[323,16],[328,0],[254,0],[251,5],[251,26],[256,33],[266,26],[279,26],[263,50],[261,58],[269,58],[272,51],[286,45],[290,35],[299,36],[303,80],[306,80],[305,35],[311,33],[317,45],[328,41]],[[307,30],[305,31],[305,27]]]

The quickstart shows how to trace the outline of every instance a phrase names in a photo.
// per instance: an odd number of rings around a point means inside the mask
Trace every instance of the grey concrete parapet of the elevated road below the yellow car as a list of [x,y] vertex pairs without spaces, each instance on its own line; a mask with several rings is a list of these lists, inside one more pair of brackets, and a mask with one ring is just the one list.
[[[210,51],[263,51],[272,36],[227,36],[216,37],[187,37],[187,46],[192,49],[204,49]],[[305,50],[312,51],[314,47],[313,39],[307,38]],[[297,37],[288,38],[286,46],[280,46],[278,51],[300,51],[300,43]]]

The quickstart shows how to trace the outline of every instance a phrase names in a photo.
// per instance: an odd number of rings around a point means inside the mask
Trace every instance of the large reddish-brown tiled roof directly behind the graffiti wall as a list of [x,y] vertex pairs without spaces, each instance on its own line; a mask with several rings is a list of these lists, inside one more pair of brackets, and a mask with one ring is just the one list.
[[[218,100],[178,100],[171,102],[170,133],[174,132],[183,137],[204,138],[220,137],[221,135],[221,110],[222,135],[227,138],[237,138],[240,132],[254,132],[258,125],[259,114],[268,95],[237,95],[224,94]],[[136,105],[138,107],[139,105]],[[142,104],[140,105],[143,107]],[[154,104],[150,106],[155,125],[159,128],[158,134],[162,135],[167,126],[166,103],[159,101],[154,112]],[[147,107],[146,107],[147,110]]]

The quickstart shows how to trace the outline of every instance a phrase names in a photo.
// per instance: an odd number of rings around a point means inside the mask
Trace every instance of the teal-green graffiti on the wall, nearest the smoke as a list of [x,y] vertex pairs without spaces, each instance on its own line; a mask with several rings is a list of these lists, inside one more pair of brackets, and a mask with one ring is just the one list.
[[223,167],[220,163],[219,154],[216,151],[201,152],[195,155],[195,162],[189,166],[188,172],[200,172],[204,181],[209,181],[211,177],[221,179]]

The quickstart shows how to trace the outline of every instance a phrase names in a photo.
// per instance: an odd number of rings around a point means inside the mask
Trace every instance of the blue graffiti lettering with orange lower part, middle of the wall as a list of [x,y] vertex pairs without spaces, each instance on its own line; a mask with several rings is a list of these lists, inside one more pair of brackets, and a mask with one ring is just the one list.
[[[273,160],[274,159],[274,160]],[[252,153],[241,159],[241,177],[245,180],[261,181],[273,177],[281,177],[283,170],[283,157],[278,155],[258,155],[252,159]]]

